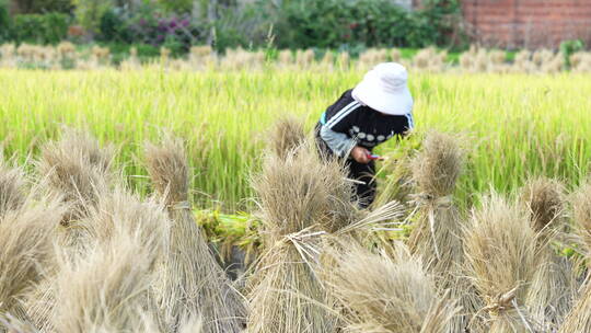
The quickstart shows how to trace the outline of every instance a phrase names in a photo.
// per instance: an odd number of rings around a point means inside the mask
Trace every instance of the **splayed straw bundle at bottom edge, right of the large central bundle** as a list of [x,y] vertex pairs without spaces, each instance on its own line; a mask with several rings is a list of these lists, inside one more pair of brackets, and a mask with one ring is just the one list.
[[459,311],[455,300],[438,294],[433,278],[407,249],[396,246],[391,257],[351,242],[339,248],[326,275],[345,309],[346,332],[448,332]]

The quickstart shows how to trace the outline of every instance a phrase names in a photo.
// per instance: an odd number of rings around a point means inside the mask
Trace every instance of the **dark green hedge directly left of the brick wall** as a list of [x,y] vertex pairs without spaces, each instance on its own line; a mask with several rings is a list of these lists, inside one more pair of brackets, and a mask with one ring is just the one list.
[[441,45],[455,36],[456,1],[431,0],[409,12],[390,0],[292,0],[278,10],[280,47]]

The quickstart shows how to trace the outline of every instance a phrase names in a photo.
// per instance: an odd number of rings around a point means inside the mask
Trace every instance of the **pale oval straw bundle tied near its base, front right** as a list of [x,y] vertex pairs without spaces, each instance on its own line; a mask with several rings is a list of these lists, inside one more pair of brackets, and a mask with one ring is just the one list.
[[487,331],[535,329],[523,307],[538,268],[535,232],[528,217],[493,194],[473,213],[464,250],[470,277],[485,303],[478,314],[487,318]]

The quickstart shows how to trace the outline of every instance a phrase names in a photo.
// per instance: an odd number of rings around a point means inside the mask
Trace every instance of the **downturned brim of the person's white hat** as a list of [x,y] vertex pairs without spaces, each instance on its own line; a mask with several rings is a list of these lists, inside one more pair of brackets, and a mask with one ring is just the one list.
[[379,79],[366,77],[352,91],[361,103],[389,115],[405,115],[413,111],[413,95],[408,87],[384,91]]

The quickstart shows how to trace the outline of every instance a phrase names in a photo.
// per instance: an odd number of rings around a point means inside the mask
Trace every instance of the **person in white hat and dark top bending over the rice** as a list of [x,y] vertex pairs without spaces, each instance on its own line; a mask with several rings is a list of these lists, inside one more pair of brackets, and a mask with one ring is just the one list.
[[375,66],[352,90],[347,90],[322,114],[315,127],[316,146],[324,159],[346,159],[355,181],[356,198],[368,207],[375,198],[372,149],[413,129],[413,96],[407,72],[396,62]]

